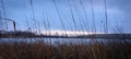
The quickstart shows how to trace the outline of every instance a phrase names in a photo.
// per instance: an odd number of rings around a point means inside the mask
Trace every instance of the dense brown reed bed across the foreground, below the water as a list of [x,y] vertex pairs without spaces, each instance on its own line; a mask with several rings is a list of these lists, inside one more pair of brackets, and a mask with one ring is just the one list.
[[131,43],[109,40],[73,43],[1,43],[0,59],[131,59]]

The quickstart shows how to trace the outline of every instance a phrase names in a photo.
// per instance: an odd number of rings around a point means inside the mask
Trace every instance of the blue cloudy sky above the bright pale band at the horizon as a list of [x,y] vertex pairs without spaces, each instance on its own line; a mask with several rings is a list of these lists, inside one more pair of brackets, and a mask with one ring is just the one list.
[[[96,31],[104,31],[105,0],[92,0],[92,3],[91,0],[32,1],[33,7],[31,5],[31,0],[3,0],[5,17],[14,20],[17,30],[26,31],[29,30],[28,27],[34,27],[40,31],[92,32],[94,28],[93,21],[95,21]],[[0,2],[0,16],[3,17],[2,2]],[[131,0],[107,0],[109,32],[118,32],[120,30],[124,33],[131,33],[130,11]],[[12,27],[10,23],[9,28]]]

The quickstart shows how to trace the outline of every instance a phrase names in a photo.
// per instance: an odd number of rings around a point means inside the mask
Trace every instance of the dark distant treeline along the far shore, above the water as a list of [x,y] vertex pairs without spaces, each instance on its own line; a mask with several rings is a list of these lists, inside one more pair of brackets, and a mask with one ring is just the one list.
[[46,34],[36,34],[33,32],[0,32],[0,37],[46,37],[46,38],[106,38],[106,39],[131,39],[131,34],[90,34],[90,35],[75,35],[75,36],[66,36],[66,35],[46,35]]

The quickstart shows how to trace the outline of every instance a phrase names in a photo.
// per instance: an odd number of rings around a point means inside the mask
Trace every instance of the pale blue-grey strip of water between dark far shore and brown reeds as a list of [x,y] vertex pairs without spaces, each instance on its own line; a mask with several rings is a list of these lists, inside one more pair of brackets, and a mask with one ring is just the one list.
[[[87,44],[91,43],[92,38],[0,38],[0,43],[37,43],[37,42],[44,42],[46,44]],[[108,42],[108,40],[120,40],[120,39],[97,39],[98,42]],[[126,39],[127,42],[131,42],[131,39]]]

